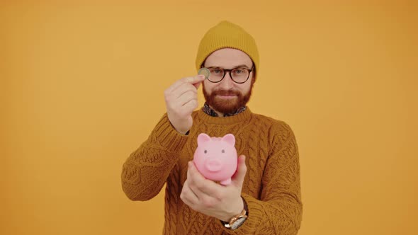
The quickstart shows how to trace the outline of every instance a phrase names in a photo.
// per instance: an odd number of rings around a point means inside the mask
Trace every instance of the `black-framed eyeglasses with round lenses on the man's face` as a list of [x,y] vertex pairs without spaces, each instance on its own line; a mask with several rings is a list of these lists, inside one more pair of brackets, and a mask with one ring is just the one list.
[[[201,68],[204,68],[203,66]],[[254,70],[254,64],[252,65],[251,69],[247,69],[246,67],[237,67],[234,69],[222,69],[220,67],[207,67],[209,69],[210,76],[208,80],[213,83],[218,83],[222,81],[225,77],[225,74],[230,74],[232,81],[237,84],[243,84],[249,79],[249,74]]]

